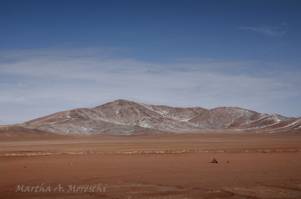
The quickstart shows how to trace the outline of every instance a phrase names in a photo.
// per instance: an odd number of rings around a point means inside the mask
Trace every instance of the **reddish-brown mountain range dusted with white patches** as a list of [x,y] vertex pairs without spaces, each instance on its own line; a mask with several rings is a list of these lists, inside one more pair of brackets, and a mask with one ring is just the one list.
[[15,126],[61,135],[197,130],[298,133],[301,117],[261,114],[238,107],[174,108],[119,99],[94,108],[61,111]]

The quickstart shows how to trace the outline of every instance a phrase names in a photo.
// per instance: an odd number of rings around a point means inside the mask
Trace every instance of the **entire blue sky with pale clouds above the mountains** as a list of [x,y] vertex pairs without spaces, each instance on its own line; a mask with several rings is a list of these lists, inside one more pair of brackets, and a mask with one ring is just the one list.
[[301,116],[301,1],[0,0],[0,125],[116,99]]

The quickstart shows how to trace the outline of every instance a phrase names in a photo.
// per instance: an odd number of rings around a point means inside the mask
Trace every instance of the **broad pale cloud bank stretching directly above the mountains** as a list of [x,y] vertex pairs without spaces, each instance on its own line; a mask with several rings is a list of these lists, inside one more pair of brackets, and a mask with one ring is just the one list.
[[[1,53],[2,59],[15,61],[0,60],[0,76],[10,77],[0,81],[0,111],[5,113],[0,124],[116,99],[177,107],[238,106],[285,116],[297,116],[301,108],[291,102],[301,97],[300,70],[275,63],[187,58],[163,64],[92,48]],[[280,102],[283,107],[273,106]]]

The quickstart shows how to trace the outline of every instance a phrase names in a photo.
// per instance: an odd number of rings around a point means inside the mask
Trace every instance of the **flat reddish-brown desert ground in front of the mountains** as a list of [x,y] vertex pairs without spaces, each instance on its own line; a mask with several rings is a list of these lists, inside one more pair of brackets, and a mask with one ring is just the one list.
[[301,134],[2,137],[0,154],[0,198],[301,198]]

